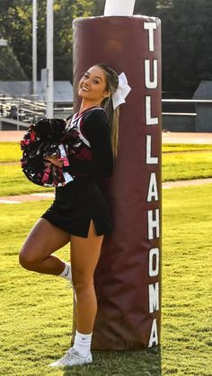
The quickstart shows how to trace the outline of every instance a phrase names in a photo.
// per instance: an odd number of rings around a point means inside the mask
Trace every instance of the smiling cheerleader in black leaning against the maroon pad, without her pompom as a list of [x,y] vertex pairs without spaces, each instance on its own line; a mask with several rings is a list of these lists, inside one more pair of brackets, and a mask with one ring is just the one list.
[[[108,206],[97,180],[109,178],[113,171],[119,104],[124,102],[118,89],[119,76],[109,66],[92,66],[82,77],[78,86],[78,95],[82,98],[80,110],[67,120],[70,127],[78,130],[82,141],[79,150],[69,159],[68,167],[57,158],[48,158],[74,179],[56,188],[54,203],[32,228],[20,252],[22,267],[65,277],[74,285],[75,343],[64,357],[50,366],[93,361],[91,342],[97,311],[93,274],[103,237],[112,231]],[[69,241],[71,265],[53,255]]]

